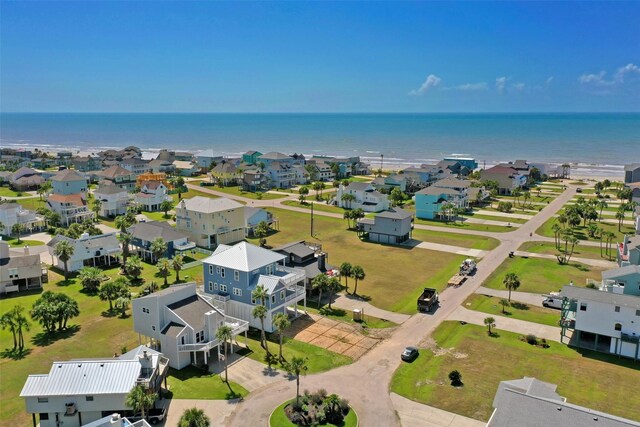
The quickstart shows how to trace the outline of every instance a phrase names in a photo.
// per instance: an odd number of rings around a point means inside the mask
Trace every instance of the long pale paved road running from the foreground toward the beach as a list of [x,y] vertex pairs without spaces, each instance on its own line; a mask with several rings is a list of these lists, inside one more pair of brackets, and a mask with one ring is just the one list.
[[[393,372],[400,364],[398,355],[407,345],[417,345],[427,338],[444,320],[450,318],[462,302],[475,292],[482,282],[509,255],[530,238],[530,233],[551,218],[563,204],[575,195],[575,187],[549,203],[538,215],[519,229],[509,233],[490,233],[498,237],[501,244],[478,263],[477,273],[464,286],[448,288],[441,294],[441,306],[430,315],[417,314],[399,326],[394,335],[374,347],[361,359],[322,374],[309,375],[301,380],[301,387],[325,388],[339,393],[351,402],[360,416],[361,425],[397,426],[400,419],[388,384]],[[441,228],[440,228],[441,230]],[[470,233],[471,234],[471,233]],[[480,234],[480,233],[473,233]],[[265,425],[269,414],[282,401],[295,393],[295,384],[289,381],[274,383],[249,395],[229,417],[230,426]],[[426,410],[426,408],[425,408]]]

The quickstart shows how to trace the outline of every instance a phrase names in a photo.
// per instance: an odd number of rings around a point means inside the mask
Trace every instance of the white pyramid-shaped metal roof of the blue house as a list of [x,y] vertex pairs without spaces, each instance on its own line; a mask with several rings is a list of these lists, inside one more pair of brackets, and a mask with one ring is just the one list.
[[268,249],[240,242],[233,246],[220,245],[211,256],[202,260],[202,263],[248,272],[285,258],[286,256]]

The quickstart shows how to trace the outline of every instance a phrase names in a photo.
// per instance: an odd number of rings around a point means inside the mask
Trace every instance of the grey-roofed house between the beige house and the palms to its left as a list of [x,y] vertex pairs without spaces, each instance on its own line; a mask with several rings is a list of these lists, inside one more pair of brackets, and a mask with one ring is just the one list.
[[132,236],[131,247],[138,253],[140,258],[153,260],[151,253],[151,242],[158,237],[167,244],[167,250],[162,257],[173,258],[177,252],[184,252],[194,249],[196,244],[189,241],[189,236],[165,221],[139,222],[128,229]]

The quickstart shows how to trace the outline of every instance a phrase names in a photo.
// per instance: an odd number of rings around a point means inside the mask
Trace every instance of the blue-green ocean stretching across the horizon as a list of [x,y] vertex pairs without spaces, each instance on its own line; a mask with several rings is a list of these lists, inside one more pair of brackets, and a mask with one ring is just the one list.
[[480,164],[526,159],[620,176],[640,162],[640,114],[135,114],[1,113],[0,145],[97,152],[128,145],[227,156],[247,150],[358,155],[384,167],[443,156]]

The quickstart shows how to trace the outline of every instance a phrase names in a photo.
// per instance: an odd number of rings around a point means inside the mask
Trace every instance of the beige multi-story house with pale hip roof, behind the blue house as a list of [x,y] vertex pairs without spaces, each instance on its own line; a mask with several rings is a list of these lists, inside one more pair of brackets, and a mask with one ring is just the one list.
[[244,239],[244,205],[234,200],[196,196],[183,199],[175,211],[176,229],[198,246],[214,249]]

